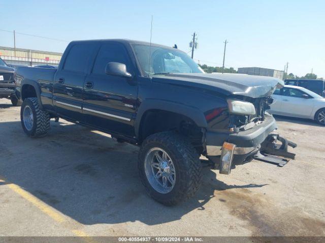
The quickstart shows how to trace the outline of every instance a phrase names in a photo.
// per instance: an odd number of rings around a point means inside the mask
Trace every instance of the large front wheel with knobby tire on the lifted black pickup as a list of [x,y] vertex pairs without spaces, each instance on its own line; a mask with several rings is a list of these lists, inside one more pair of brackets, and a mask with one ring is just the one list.
[[192,197],[202,180],[198,153],[185,137],[174,132],[146,138],[139,152],[138,167],[149,195],[167,206]]

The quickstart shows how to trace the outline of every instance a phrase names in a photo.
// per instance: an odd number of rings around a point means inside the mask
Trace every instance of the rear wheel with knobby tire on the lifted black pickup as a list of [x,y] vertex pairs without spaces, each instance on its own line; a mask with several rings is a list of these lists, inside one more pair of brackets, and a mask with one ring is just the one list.
[[20,110],[21,126],[32,138],[46,135],[50,129],[50,115],[41,110],[37,98],[26,98]]

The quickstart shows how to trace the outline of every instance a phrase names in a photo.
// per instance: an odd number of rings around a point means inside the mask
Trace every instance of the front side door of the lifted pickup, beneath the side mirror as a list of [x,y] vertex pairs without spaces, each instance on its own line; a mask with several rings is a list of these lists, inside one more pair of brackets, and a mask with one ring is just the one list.
[[134,74],[125,47],[115,42],[103,43],[84,82],[85,122],[96,128],[133,137],[138,87],[134,77],[130,79],[106,74],[105,67],[109,62],[123,63],[127,71]]

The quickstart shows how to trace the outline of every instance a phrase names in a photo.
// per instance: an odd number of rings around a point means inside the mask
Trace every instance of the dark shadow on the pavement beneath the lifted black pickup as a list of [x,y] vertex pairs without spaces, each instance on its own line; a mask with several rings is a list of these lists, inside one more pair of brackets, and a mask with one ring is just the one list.
[[210,200],[222,201],[215,198],[221,191],[266,185],[227,185],[204,168],[197,194],[179,206],[165,207],[151,199],[141,184],[137,147],[78,125],[51,125],[47,137],[30,139],[19,121],[0,123],[0,175],[6,178],[0,188],[14,183],[82,224],[161,224],[205,210]]

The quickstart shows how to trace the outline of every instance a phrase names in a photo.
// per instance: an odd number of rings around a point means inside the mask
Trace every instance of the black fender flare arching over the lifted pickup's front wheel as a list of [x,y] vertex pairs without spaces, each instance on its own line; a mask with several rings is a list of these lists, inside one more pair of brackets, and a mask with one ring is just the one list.
[[208,126],[203,112],[196,107],[187,106],[181,103],[176,103],[168,100],[146,99],[139,106],[137,117],[135,120],[135,134],[137,137],[139,137],[139,129],[143,114],[146,111],[152,109],[165,110],[177,114],[182,114],[193,120],[194,123],[196,123],[196,125],[201,128],[206,128]]

